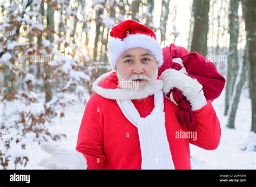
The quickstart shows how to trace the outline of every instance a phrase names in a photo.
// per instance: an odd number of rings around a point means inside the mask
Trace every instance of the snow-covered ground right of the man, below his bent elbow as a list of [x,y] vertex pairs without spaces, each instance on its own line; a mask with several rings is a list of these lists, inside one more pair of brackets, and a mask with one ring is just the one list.
[[256,152],[241,150],[246,145],[251,130],[251,100],[248,92],[242,90],[234,130],[226,127],[224,99],[225,91],[212,103],[221,126],[219,147],[215,150],[204,150],[191,145],[192,169],[256,169]]

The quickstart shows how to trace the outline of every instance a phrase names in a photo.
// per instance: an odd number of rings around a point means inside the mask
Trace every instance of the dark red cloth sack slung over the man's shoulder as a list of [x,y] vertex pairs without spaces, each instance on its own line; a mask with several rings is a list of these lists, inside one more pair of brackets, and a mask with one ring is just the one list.
[[[174,44],[162,50],[164,63],[158,68],[158,76],[169,68],[180,70],[188,76],[196,78],[203,85],[204,96],[207,100],[212,101],[220,96],[226,81],[212,62],[197,52],[190,53],[185,48]],[[178,89],[173,88],[166,96],[170,97],[171,93],[174,101],[179,105],[178,120],[180,124],[188,127],[195,126],[197,121],[193,116],[190,103]]]

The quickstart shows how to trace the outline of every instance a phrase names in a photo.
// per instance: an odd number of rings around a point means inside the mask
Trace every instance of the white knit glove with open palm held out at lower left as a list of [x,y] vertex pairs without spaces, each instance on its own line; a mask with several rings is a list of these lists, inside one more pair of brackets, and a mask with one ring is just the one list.
[[46,169],[86,169],[87,163],[84,155],[77,151],[68,150],[49,142],[43,142],[40,148],[52,155],[38,161],[39,166]]

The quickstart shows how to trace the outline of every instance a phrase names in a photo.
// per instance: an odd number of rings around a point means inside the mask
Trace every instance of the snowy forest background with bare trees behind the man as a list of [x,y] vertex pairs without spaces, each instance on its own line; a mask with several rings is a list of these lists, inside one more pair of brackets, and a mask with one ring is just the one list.
[[213,106],[216,150],[191,145],[193,169],[256,169],[256,1],[1,0],[0,168],[41,169],[40,142],[75,149],[92,83],[111,70],[111,28],[132,19],[161,47],[198,52],[226,79]]

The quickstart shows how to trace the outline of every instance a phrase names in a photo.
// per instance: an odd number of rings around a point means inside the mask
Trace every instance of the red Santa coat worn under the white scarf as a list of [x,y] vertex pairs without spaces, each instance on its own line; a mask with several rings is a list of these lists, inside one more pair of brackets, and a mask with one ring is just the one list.
[[[137,127],[126,119],[114,95],[118,79],[113,72],[99,78],[100,90],[87,102],[80,125],[76,150],[87,161],[87,169],[141,169],[142,156]],[[103,93],[108,92],[107,96]],[[101,96],[103,95],[103,96]],[[109,96],[109,97],[108,97]],[[154,107],[154,96],[133,99],[132,103],[141,117],[146,117]],[[191,169],[189,143],[213,150],[220,141],[220,124],[210,101],[193,111],[195,127],[181,126],[177,119],[178,106],[164,97],[165,128],[175,169]],[[177,132],[197,132],[197,139],[177,138]]]

